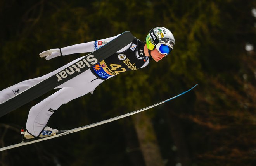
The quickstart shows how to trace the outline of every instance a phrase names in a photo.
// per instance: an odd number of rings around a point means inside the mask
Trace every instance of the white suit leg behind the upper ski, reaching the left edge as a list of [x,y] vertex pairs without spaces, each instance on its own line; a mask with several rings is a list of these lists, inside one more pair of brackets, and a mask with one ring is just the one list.
[[[81,57],[81,58],[83,58],[83,57]],[[2,91],[0,91],[0,103],[6,101],[7,99],[12,98],[13,96],[17,95],[18,93],[21,93],[22,91],[25,91],[26,89],[38,84],[42,80],[47,79],[48,77],[62,71],[64,68],[67,68],[68,66],[70,66],[75,61],[78,61],[81,58],[73,60],[72,62],[58,68],[57,70],[55,70],[53,72],[50,72],[46,75],[43,75],[42,77],[37,77],[37,78],[34,78],[34,79],[25,80],[25,81],[22,81],[18,84],[10,86],[6,89],[3,89]]]

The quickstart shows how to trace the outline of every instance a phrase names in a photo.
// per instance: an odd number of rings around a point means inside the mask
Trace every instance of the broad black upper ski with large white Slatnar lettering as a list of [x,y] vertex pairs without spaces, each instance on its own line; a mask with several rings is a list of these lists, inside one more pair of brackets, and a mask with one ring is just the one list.
[[35,86],[32,86],[29,89],[1,103],[0,117],[10,113],[11,111],[23,106],[26,103],[29,103],[33,99],[42,96],[43,94],[51,91],[55,87],[63,84],[73,77],[76,77],[77,75],[91,68],[97,62],[100,62],[113,55],[124,46],[130,44],[132,41],[133,35],[130,32],[125,31],[111,42],[105,44],[92,53],[79,58],[79,60],[67,66],[66,68],[60,68],[60,71],[51,77],[48,77]]

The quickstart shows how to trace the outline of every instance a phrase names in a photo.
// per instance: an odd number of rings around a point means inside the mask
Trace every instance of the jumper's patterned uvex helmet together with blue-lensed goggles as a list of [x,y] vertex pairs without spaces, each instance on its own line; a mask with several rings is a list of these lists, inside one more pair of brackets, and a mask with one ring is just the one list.
[[149,31],[146,37],[147,48],[154,50],[155,48],[159,53],[167,56],[175,44],[175,39],[171,31],[165,27],[156,27]]

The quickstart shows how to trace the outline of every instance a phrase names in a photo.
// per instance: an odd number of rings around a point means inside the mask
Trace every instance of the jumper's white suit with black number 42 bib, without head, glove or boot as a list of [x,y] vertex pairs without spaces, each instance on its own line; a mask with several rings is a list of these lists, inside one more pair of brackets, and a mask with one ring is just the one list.
[[[76,44],[73,46],[67,46],[61,48],[61,52],[62,55],[92,52],[104,44],[107,44],[116,37],[117,36],[87,43]],[[27,131],[33,136],[40,135],[42,130],[46,127],[50,116],[62,104],[66,104],[73,99],[92,92],[104,80],[114,77],[115,75],[126,71],[137,70],[148,65],[149,57],[145,56],[144,54],[144,46],[145,42],[134,38],[132,43],[120,49],[109,58],[106,58],[100,63],[97,63],[92,68],[68,80],[60,86],[55,87],[56,89],[61,89],[30,109],[26,123]],[[68,63],[67,65],[55,70],[54,72],[43,75],[42,77],[26,80],[0,91],[0,103],[56,74],[57,71],[65,69],[81,58]]]

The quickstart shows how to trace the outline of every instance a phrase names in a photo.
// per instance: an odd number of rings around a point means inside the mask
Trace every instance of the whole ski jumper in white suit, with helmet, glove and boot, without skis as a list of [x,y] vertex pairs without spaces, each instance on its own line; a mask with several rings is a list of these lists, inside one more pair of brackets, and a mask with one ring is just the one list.
[[[61,55],[93,52],[116,37],[117,36],[76,44],[60,49],[50,49],[40,53],[40,56],[49,60]],[[95,64],[92,68],[68,80],[60,86],[55,87],[56,89],[60,88],[60,90],[33,106],[29,111],[25,137],[30,139],[34,137],[55,135],[58,130],[48,127],[47,122],[50,116],[62,104],[66,104],[69,101],[89,92],[92,93],[100,83],[114,77],[115,75],[126,71],[134,71],[147,66],[150,59],[154,59],[158,62],[171,52],[174,44],[175,39],[173,34],[164,27],[151,29],[146,37],[146,41],[144,42],[134,37],[133,42],[121,48],[109,58]],[[79,59],[81,58],[78,58],[57,70],[59,71],[64,69]],[[43,75],[42,77],[26,80],[3,89],[0,91],[0,103],[56,74],[57,70]]]

